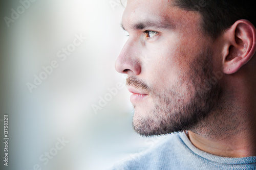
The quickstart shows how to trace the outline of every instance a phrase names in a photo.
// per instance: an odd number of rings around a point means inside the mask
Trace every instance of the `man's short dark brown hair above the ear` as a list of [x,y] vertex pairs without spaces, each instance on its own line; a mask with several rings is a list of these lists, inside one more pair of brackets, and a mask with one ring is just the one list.
[[174,0],[172,5],[198,11],[203,17],[202,28],[217,38],[239,19],[247,19],[256,26],[256,9],[252,0]]

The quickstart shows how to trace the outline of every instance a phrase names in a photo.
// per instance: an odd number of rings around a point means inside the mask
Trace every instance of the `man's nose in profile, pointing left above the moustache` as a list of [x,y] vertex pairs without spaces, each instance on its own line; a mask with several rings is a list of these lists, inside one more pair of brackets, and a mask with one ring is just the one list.
[[129,76],[139,75],[141,72],[141,63],[139,61],[138,47],[132,41],[127,41],[123,46],[121,53],[119,54],[115,69],[121,74],[127,74]]

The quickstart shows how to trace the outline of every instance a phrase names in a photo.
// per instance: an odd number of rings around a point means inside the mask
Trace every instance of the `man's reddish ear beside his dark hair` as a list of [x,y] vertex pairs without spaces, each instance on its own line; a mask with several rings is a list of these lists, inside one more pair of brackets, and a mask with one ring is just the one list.
[[226,45],[222,60],[222,71],[225,74],[237,72],[254,55],[256,50],[256,29],[245,19],[236,21],[224,33]]

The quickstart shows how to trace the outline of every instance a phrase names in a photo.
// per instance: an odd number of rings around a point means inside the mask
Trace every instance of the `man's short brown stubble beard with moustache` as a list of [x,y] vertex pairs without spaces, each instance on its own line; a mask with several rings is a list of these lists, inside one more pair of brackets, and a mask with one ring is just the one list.
[[[161,93],[135,77],[128,77],[127,85],[144,89],[154,102],[154,107],[140,113],[134,105],[133,128],[142,136],[162,135],[202,127],[221,104],[222,88],[212,77],[212,52],[207,49],[190,63],[189,71],[179,76],[172,87]],[[186,86],[186,94],[179,91]],[[208,118],[208,120],[207,120]],[[206,125],[207,126],[207,125]]]

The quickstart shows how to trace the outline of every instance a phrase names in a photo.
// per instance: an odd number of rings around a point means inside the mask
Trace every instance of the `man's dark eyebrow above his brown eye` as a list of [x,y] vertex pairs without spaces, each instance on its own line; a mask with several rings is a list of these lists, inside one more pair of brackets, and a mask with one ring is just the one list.
[[[174,29],[175,25],[170,22],[169,20],[165,19],[164,21],[151,21],[151,20],[144,20],[141,22],[138,22],[134,25],[128,25],[129,28],[128,29],[132,29],[132,30],[143,30],[146,28],[162,28],[162,29]],[[126,31],[126,29],[123,26],[123,23],[121,23],[121,27],[123,30]]]

